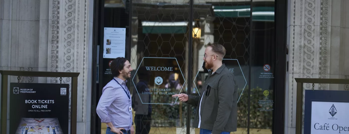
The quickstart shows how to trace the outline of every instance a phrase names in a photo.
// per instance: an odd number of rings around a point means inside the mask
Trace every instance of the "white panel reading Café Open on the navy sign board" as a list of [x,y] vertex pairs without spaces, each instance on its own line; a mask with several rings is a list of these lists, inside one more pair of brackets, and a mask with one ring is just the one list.
[[313,101],[311,134],[349,134],[348,111],[348,102]]

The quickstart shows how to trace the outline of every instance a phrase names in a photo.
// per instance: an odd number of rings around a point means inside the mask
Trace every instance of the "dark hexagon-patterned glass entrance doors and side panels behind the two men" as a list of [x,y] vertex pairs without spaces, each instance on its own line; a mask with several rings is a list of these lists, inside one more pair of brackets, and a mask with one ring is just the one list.
[[[238,128],[232,133],[273,133],[275,81],[280,76],[275,1],[105,0],[103,6],[103,28],[126,27],[136,134],[199,134],[193,128],[198,109],[171,96],[200,93],[210,71],[203,62],[208,43],[225,47],[223,63],[237,78]],[[113,58],[101,59],[99,91],[112,78],[107,69]],[[99,125],[104,134],[105,124]]]

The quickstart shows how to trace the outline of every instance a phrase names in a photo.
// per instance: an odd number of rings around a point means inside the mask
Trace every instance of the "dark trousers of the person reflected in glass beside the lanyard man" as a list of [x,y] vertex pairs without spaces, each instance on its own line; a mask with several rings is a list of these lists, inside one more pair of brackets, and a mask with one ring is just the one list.
[[149,134],[151,115],[135,115],[134,122],[136,125],[136,134]]

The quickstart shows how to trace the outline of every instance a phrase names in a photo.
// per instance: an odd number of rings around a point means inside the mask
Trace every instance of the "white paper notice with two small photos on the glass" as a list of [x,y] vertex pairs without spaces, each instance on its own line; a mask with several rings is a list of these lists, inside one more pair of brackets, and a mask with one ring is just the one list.
[[126,28],[104,27],[103,58],[125,57]]

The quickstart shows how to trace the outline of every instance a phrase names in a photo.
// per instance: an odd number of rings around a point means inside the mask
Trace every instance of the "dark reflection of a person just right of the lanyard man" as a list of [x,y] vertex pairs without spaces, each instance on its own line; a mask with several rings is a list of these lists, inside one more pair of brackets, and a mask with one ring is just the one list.
[[[150,72],[141,66],[137,71],[139,82],[133,90],[133,109],[135,111],[136,134],[149,134],[151,124],[151,92],[149,91]],[[142,103],[143,102],[143,103]]]

